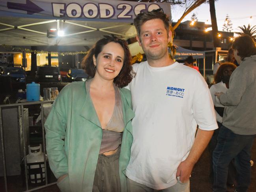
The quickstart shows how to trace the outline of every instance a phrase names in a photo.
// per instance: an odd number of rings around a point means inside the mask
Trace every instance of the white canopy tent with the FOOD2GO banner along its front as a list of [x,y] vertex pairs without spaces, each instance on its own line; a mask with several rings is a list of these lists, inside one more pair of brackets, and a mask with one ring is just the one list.
[[[169,3],[108,0],[2,0],[0,44],[13,46],[86,46],[88,50],[103,35],[129,39],[136,35],[133,18],[141,11],[162,8],[170,15]],[[47,37],[52,28],[64,35]]]

